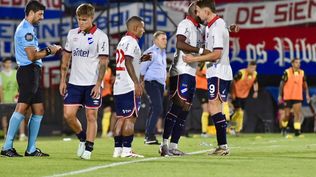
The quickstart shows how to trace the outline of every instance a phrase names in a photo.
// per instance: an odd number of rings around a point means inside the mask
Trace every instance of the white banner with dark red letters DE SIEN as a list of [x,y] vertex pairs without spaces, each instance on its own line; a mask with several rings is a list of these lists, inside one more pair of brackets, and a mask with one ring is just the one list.
[[316,0],[230,3],[219,6],[227,24],[241,28],[266,28],[316,21]]

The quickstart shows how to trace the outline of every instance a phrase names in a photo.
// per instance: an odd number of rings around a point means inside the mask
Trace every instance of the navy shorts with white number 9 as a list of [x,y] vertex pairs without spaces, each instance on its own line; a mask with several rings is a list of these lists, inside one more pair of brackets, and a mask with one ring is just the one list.
[[222,80],[218,77],[208,78],[207,88],[209,100],[215,100],[219,97],[222,102],[226,102],[230,88],[230,81]]

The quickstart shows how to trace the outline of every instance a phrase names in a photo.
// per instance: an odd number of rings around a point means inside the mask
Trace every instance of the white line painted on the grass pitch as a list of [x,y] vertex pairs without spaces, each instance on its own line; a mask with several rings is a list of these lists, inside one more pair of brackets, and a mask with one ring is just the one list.
[[[208,149],[208,150],[202,150],[202,151],[189,152],[187,154],[189,154],[189,155],[202,154],[202,153],[205,153],[208,151],[210,151],[210,150]],[[91,172],[91,171],[95,171],[95,170],[99,170],[99,169],[122,166],[122,165],[131,164],[131,163],[154,161],[154,160],[159,160],[162,158],[173,158],[173,157],[151,157],[151,158],[143,158],[143,159],[137,159],[137,160],[132,160],[132,161],[126,161],[126,162],[115,162],[115,163],[111,163],[111,164],[98,165],[98,166],[94,166],[94,167],[90,167],[90,168],[86,168],[86,169],[82,169],[82,170],[70,171],[70,172],[66,172],[66,173],[60,173],[60,174],[55,174],[55,175],[45,176],[45,177],[60,177],[60,176],[68,176],[68,175],[77,175],[77,174],[87,173],[87,172]]]

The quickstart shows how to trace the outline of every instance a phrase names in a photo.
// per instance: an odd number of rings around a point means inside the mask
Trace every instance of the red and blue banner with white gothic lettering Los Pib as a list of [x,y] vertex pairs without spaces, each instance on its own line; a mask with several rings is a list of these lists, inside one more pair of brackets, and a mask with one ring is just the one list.
[[[231,62],[238,65],[255,60],[259,70],[280,74],[293,58],[300,58],[308,74],[315,75],[316,27],[241,29],[231,33]],[[283,68],[283,69],[282,69]]]

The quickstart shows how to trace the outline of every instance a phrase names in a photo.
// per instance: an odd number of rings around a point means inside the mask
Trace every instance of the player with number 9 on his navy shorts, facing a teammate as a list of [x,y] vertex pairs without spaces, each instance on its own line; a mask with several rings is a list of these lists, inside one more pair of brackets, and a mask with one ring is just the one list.
[[207,22],[205,47],[212,52],[201,56],[190,54],[183,57],[186,63],[210,61],[207,68],[209,102],[208,109],[216,128],[218,147],[210,155],[227,155],[229,148],[226,138],[226,117],[222,103],[227,100],[229,85],[233,78],[229,62],[229,33],[223,19],[216,15],[214,0],[200,0],[196,3],[197,15]]

